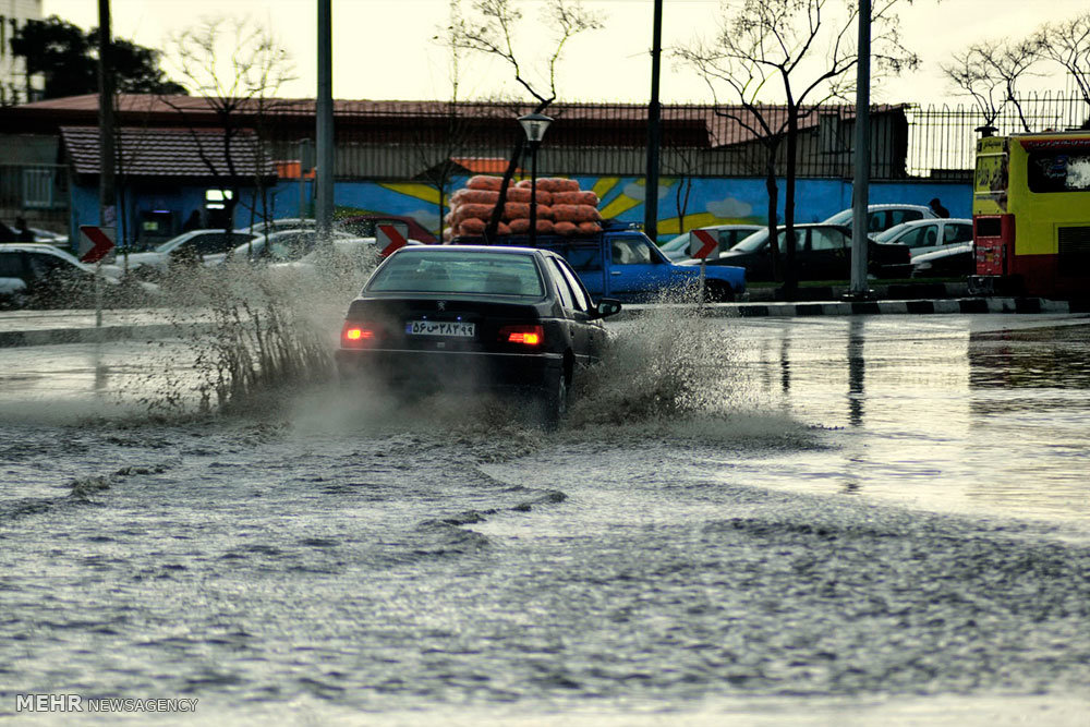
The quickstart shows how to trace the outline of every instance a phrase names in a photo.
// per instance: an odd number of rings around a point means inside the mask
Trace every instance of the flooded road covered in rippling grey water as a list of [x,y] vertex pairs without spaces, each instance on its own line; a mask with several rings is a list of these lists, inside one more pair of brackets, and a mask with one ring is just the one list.
[[186,341],[0,350],[0,714],[1088,724],[1087,319],[611,329],[550,434],[322,383],[173,408]]

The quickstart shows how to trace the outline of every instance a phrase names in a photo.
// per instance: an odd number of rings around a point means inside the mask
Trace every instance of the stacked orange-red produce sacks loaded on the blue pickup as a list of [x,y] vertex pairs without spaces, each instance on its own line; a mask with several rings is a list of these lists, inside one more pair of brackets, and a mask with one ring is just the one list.
[[[492,211],[499,202],[504,180],[499,177],[471,177],[465,186],[450,195],[450,213],[444,238],[484,234]],[[528,179],[507,189],[507,201],[497,234],[524,234],[530,231],[530,185]],[[579,189],[573,179],[537,180],[538,234],[594,234],[602,231],[598,195]]]

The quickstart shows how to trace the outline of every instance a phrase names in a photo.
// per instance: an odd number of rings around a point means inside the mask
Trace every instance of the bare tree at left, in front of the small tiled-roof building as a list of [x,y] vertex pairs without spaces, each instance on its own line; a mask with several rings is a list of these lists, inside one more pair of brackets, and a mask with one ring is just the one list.
[[[277,96],[283,84],[295,77],[294,64],[272,32],[250,17],[202,17],[195,25],[171,35],[167,39],[167,51],[186,88],[207,104],[222,129],[226,173],[199,144],[197,148],[209,174],[227,180],[225,186],[230,191],[230,199],[225,199],[223,226],[229,232],[240,201],[237,163],[240,131],[254,132],[246,135],[247,143],[253,145],[247,150],[254,159],[264,159],[267,126],[281,104]],[[164,101],[186,117],[185,106],[175,104],[170,97],[164,97]],[[192,123],[190,130],[196,138]],[[253,172],[261,199],[251,205],[251,219],[258,207],[261,216],[268,219],[268,196],[259,166]]]

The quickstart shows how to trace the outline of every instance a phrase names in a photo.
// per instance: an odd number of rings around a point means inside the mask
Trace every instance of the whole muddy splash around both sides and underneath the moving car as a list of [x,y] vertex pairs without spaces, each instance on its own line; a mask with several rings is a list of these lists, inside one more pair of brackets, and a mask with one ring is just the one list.
[[[302,432],[403,431],[500,443],[480,452],[485,459],[589,433],[736,440],[802,428],[756,400],[735,361],[729,323],[707,316],[691,291],[667,291],[640,315],[610,323],[610,347],[577,377],[568,419],[555,434],[543,435],[518,399],[436,393],[405,401],[366,378],[338,381],[331,353],[339,325],[375,263],[373,255],[330,249],[305,266],[229,262],[175,271],[165,289],[179,311],[191,366],[149,372],[144,403],[158,414],[287,420]],[[168,355],[177,362],[179,354]]]

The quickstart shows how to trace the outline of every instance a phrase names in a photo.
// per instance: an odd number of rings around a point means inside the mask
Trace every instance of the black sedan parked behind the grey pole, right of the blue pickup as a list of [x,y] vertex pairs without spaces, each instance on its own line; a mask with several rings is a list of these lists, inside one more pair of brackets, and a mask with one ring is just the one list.
[[[780,262],[786,259],[786,230],[779,234]],[[910,251],[905,245],[868,241],[869,272],[875,277],[907,276],[911,271]],[[682,265],[699,265],[686,262]],[[749,282],[771,282],[772,252],[768,230],[749,235],[730,250],[719,253],[708,265],[737,265],[746,268]],[[799,280],[848,280],[851,278],[851,230],[824,222],[795,226],[795,264]]]

